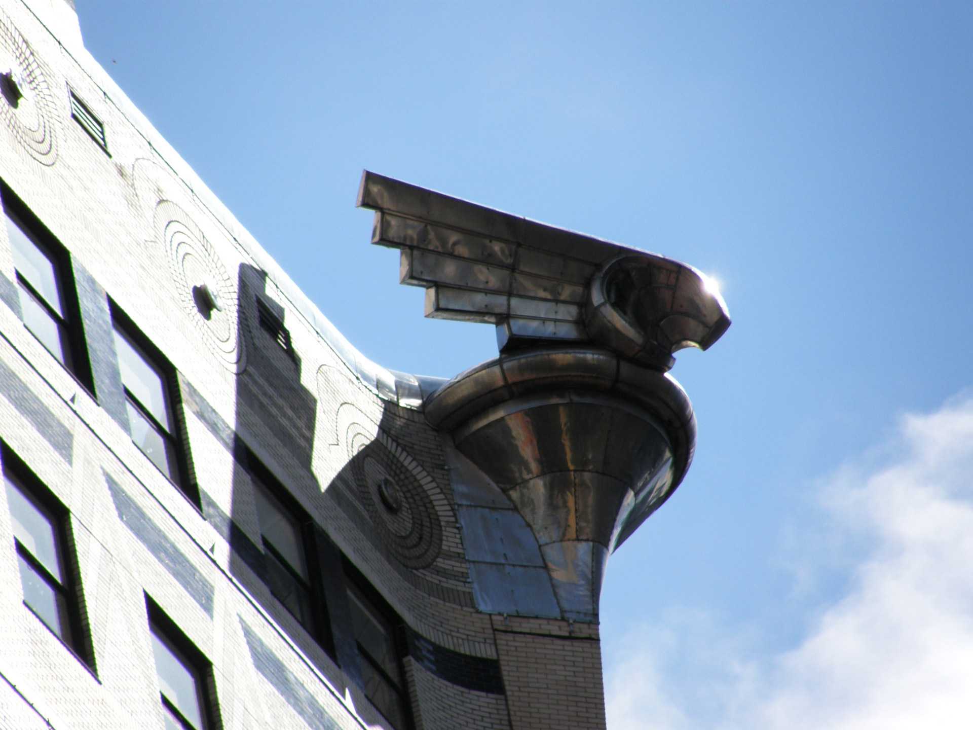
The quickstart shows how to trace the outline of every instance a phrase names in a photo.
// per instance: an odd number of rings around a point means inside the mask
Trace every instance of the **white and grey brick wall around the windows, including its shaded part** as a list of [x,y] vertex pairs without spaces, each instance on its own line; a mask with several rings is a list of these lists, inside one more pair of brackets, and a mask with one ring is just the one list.
[[[323,316],[85,51],[73,6],[0,0],[0,53],[34,85],[18,107],[0,98],[0,178],[69,251],[91,366],[79,383],[24,327],[0,227],[0,439],[69,511],[93,653],[89,666],[23,603],[0,490],[0,730],[162,727],[147,596],[211,664],[223,728],[389,727],[366,695],[342,556],[387,603],[416,730],[604,727],[597,625],[478,607],[444,436],[349,367]],[[69,88],[110,154],[72,120]],[[193,299],[203,274],[224,305],[209,318]],[[198,504],[129,438],[112,306],[174,368]],[[313,524],[320,631],[267,586],[244,449]]]

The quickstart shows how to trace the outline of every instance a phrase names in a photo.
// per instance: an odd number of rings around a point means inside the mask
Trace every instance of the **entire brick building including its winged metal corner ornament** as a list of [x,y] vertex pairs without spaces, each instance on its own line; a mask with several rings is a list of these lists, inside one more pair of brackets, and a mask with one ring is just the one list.
[[601,575],[689,467],[705,278],[366,172],[426,314],[497,328],[390,371],[72,3],[0,2],[0,95],[0,728],[604,727]]

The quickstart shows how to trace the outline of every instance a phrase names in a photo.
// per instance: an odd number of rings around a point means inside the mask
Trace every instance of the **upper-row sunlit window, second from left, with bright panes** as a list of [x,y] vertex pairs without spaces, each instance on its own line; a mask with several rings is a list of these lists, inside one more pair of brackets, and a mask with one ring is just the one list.
[[135,445],[162,474],[198,504],[195,490],[189,492],[179,449],[178,428],[173,408],[173,369],[162,353],[138,331],[124,312],[112,307],[115,349],[118,352],[122,384],[128,406],[128,429]]

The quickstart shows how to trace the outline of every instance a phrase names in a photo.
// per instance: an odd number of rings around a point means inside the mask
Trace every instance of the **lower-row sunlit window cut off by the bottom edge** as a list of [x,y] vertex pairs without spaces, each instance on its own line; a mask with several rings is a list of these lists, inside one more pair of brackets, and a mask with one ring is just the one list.
[[165,730],[215,728],[215,704],[207,693],[209,662],[155,602],[146,597],[146,604]]

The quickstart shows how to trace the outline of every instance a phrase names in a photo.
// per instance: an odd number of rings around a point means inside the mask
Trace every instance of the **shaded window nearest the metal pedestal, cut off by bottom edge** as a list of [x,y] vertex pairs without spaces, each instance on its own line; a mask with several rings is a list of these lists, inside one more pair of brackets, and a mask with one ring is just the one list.
[[[351,572],[345,562],[345,572]],[[357,571],[354,571],[357,572]],[[408,692],[402,674],[397,619],[375,589],[364,584],[358,575],[348,575],[348,606],[351,629],[361,657],[365,696],[393,727],[410,727]]]

